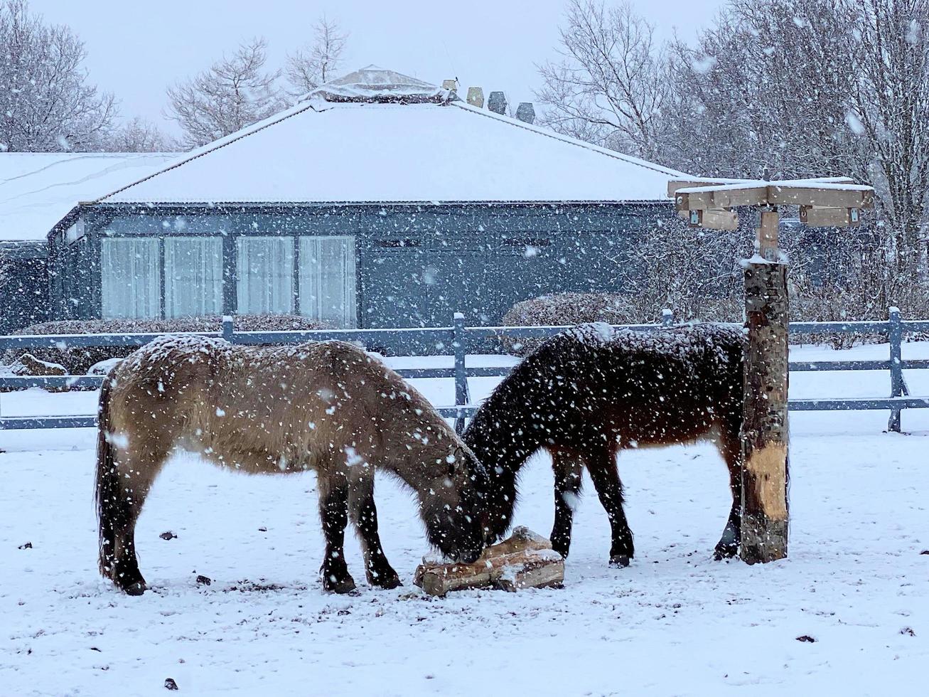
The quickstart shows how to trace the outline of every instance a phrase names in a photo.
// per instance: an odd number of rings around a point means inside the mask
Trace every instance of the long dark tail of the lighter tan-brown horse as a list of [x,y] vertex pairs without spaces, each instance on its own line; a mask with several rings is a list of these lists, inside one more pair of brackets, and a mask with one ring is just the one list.
[[94,505],[97,507],[99,533],[98,567],[100,573],[111,578],[116,555],[116,528],[121,510],[119,505],[120,480],[113,457],[111,443],[111,377],[103,378],[97,408],[97,475]]

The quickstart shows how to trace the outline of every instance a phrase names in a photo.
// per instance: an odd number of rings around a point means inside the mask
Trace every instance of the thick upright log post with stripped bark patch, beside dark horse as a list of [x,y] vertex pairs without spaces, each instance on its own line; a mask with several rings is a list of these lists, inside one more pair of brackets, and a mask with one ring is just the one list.
[[745,265],[744,413],[739,556],[749,564],[787,556],[787,264],[777,211],[762,213],[758,255]]

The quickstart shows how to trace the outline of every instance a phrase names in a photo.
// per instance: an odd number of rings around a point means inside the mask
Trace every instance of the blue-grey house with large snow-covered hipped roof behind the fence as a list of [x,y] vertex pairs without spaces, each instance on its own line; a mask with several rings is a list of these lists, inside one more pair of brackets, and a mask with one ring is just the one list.
[[124,174],[47,222],[52,318],[499,322],[527,297],[622,290],[629,240],[674,215],[684,177],[374,66]]

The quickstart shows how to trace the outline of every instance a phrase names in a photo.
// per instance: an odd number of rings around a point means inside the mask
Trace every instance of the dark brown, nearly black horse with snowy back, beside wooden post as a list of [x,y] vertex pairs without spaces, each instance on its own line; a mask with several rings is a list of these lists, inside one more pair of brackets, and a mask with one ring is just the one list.
[[552,546],[568,556],[586,466],[607,509],[610,563],[626,566],[635,548],[622,510],[616,455],[623,448],[710,439],[726,460],[732,490],[715,556],[733,556],[741,506],[743,341],[741,327],[734,324],[646,333],[595,323],[536,349],[493,390],[464,431],[464,442],[490,468],[491,538],[510,526],[519,469],[544,449],[555,470]]

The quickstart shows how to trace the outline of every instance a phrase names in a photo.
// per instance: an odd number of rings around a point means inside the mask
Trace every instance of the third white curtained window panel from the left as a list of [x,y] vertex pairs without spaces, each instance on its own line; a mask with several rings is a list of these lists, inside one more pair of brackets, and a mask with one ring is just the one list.
[[293,312],[294,238],[240,237],[238,243],[239,312]]

